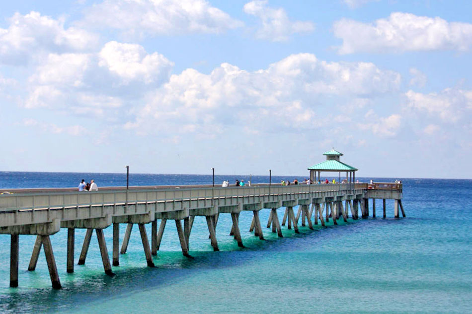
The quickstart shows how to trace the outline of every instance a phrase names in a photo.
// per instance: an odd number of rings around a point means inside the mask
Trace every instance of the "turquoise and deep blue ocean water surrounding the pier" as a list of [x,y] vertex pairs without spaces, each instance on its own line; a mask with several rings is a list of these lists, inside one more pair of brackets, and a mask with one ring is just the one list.
[[[41,174],[43,179],[49,175]],[[0,173],[0,182],[9,188],[31,187],[28,176],[37,175],[26,174],[20,183],[11,173]],[[55,182],[53,177],[45,182]],[[208,176],[190,177],[192,183],[208,183]],[[162,184],[169,181],[162,175],[159,178]],[[181,184],[189,178],[174,179]],[[149,178],[135,180],[136,185],[150,182]],[[0,311],[471,313],[472,181],[404,179],[403,183],[407,215],[403,219],[392,218],[393,202],[387,201],[387,219],[349,219],[348,223],[341,219],[338,226],[330,221],[327,228],[318,225],[315,231],[300,227],[298,235],[283,227],[283,239],[264,228],[267,241],[260,241],[248,232],[252,213],[242,212],[240,228],[246,249],[238,248],[229,236],[231,216],[221,214],[217,227],[221,251],[213,252],[206,222],[196,217],[190,236],[194,259],[182,256],[175,224],[169,221],[154,257],[156,268],[146,266],[135,226],[128,252],[120,256],[120,266],[113,267],[114,277],[103,272],[95,235],[86,264],[76,265],[75,273],[67,274],[67,231],[61,230],[51,237],[63,285],[59,291],[51,289],[43,252],[36,271],[26,271],[34,236],[20,236],[19,288],[8,288],[9,236],[1,235]],[[381,208],[380,200],[378,216]],[[278,210],[279,220],[283,213],[284,208]],[[261,210],[260,215],[265,227],[269,210]],[[105,230],[110,257],[111,229]],[[122,225],[121,237],[124,230]],[[76,263],[84,233],[76,230]]]

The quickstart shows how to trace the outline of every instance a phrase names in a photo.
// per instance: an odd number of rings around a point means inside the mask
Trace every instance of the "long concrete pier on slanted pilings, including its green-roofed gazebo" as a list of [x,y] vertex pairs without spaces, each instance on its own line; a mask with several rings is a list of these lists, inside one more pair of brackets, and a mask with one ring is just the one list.
[[[67,269],[74,272],[75,230],[86,229],[78,264],[84,264],[90,241],[95,233],[106,274],[113,275],[112,266],[119,266],[120,254],[126,253],[134,225],[138,225],[147,265],[155,267],[156,255],[167,222],[173,220],[177,229],[182,254],[189,254],[189,238],[195,216],[205,216],[209,241],[213,251],[219,251],[216,226],[219,216],[231,215],[232,228],[227,232],[238,247],[243,248],[239,214],[251,211],[253,218],[249,232],[264,240],[259,219],[260,210],[270,210],[267,228],[279,237],[282,227],[287,225],[295,233],[302,226],[313,229],[318,223],[332,219],[347,222],[376,217],[376,199],[383,200],[383,218],[387,217],[386,200],[393,199],[393,217],[399,218],[401,210],[405,217],[401,183],[354,183],[356,168],[339,161],[341,153],[334,149],[326,152],[323,162],[310,170],[310,177],[318,179],[321,171],[346,172],[344,184],[252,184],[244,187],[206,186],[152,186],[110,187],[98,191],[78,191],[77,188],[9,189],[0,190],[0,234],[9,234],[10,243],[10,287],[18,286],[19,235],[36,236],[32,248],[29,271],[36,269],[41,250],[44,251],[52,287],[61,288],[50,236],[67,228]],[[338,169],[344,167],[343,169]],[[372,204],[372,215],[369,204]],[[295,214],[294,207],[298,206]],[[280,223],[277,209],[285,207]],[[360,212],[360,215],[359,215]],[[301,220],[301,221],[300,221]],[[127,224],[120,249],[120,226]],[[145,224],[151,224],[151,245]],[[112,263],[105,243],[103,229],[113,226]],[[247,230],[247,229],[244,229]]]

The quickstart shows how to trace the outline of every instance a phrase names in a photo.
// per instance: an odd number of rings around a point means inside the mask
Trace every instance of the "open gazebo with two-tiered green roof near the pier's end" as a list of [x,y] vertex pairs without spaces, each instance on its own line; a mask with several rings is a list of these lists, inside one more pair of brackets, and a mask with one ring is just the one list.
[[[341,179],[341,172],[346,173],[346,179],[349,183],[354,182],[356,180],[356,171],[357,168],[349,166],[343,162],[339,161],[339,156],[343,154],[338,152],[337,150],[331,149],[325,152],[323,155],[326,156],[326,160],[316,164],[308,168],[310,170],[310,180],[311,181],[321,181],[320,173],[323,172],[339,172],[339,179]],[[316,172],[318,173],[318,179],[316,180]],[[315,180],[314,180],[315,179]]]

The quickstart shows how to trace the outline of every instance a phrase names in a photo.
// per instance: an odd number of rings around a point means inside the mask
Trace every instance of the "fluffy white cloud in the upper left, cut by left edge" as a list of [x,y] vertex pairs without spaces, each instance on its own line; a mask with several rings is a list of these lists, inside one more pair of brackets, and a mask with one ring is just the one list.
[[34,11],[15,13],[8,28],[0,28],[0,63],[23,64],[43,51],[79,52],[95,47],[96,35],[75,27],[64,28],[64,22]]

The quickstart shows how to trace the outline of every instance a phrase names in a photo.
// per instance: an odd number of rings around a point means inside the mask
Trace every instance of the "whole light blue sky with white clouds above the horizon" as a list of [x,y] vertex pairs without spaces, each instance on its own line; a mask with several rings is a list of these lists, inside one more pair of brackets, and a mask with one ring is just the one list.
[[472,2],[0,3],[0,171],[472,177]]

